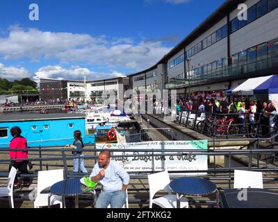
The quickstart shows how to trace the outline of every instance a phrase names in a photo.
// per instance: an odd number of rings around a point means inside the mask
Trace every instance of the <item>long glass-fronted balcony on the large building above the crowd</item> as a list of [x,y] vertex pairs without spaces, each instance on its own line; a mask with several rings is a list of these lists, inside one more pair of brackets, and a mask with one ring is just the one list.
[[[248,61],[244,64],[233,65],[229,67],[222,67],[215,69],[214,71],[208,71],[203,74],[190,74],[190,87],[195,85],[217,83],[222,80],[233,80],[237,78],[252,78],[256,77],[249,74],[256,71],[278,68],[278,56],[272,56],[269,58]],[[273,74],[273,73],[268,73]],[[258,76],[258,75],[257,75]],[[165,84],[166,89],[179,89],[188,87],[187,79],[175,79],[170,83]]]

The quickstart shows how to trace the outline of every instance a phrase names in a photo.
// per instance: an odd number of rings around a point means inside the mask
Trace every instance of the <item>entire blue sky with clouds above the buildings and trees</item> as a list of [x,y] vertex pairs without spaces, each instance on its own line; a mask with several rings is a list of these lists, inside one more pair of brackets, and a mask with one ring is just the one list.
[[97,80],[142,71],[223,2],[1,0],[0,78]]

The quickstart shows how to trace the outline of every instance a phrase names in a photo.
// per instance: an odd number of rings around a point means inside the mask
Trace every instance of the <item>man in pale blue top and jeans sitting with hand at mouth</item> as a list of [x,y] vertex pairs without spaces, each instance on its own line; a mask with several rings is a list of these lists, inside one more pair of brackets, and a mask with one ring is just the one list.
[[102,191],[97,198],[95,208],[122,208],[126,201],[126,189],[129,185],[129,174],[114,160],[107,148],[98,156],[98,163],[92,169],[90,180],[100,182]]

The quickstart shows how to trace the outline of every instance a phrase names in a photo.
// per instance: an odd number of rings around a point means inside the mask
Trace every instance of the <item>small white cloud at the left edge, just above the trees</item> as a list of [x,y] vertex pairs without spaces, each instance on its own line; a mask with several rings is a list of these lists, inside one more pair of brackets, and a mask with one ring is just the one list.
[[8,80],[32,78],[33,74],[25,68],[6,67],[0,63],[0,78],[6,78]]

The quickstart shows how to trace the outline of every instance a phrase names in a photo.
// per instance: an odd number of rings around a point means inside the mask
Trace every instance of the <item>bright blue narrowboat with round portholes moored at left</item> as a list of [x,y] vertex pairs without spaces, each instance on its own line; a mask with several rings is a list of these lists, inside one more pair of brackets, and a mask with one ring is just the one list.
[[13,137],[10,129],[19,126],[29,147],[65,146],[74,142],[74,130],[81,130],[84,144],[95,144],[95,135],[87,135],[85,114],[1,114],[0,147],[8,147]]

